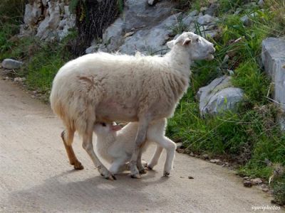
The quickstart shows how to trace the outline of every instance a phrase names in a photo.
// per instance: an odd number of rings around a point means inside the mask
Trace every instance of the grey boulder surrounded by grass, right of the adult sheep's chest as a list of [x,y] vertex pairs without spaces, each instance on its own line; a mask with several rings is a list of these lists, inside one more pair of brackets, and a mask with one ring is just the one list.
[[224,111],[234,111],[237,108],[244,92],[242,89],[232,87],[230,79],[231,77],[227,76],[219,77],[199,89],[197,98],[201,116],[222,114]]

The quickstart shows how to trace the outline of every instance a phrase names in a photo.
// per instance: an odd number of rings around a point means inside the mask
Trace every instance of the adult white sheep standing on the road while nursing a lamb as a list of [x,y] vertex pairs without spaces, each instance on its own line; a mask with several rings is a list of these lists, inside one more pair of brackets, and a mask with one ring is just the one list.
[[93,53],[71,60],[58,71],[51,108],[66,126],[61,136],[75,168],[83,168],[71,146],[77,130],[100,174],[113,180],[93,151],[93,126],[96,121],[138,121],[130,173],[140,178],[139,170],[144,168],[138,158],[148,124],[172,116],[187,90],[191,62],[214,58],[214,45],[195,33],[182,33],[167,45],[171,50],[163,57]]

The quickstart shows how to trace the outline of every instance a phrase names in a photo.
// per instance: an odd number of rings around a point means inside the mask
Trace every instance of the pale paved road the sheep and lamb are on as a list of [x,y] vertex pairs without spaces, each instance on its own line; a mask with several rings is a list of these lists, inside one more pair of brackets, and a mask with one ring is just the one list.
[[110,181],[77,136],[74,148],[85,169],[73,170],[62,130],[48,105],[0,80],[0,212],[253,212],[252,206],[272,205],[227,168],[178,153],[170,178],[162,178],[163,155],[141,180],[123,174]]

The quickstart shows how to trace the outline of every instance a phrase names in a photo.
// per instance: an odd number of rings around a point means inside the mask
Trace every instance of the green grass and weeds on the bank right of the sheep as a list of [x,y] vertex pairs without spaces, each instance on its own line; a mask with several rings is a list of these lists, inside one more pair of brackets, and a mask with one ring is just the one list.
[[[191,4],[192,9],[199,9],[207,6],[208,1],[192,1]],[[274,175],[274,165],[285,165],[285,134],[276,124],[278,111],[269,100],[270,80],[259,65],[261,41],[285,33],[282,30],[284,16],[280,16],[280,11],[285,11],[285,2],[267,4],[261,11],[258,6],[244,6],[244,1],[240,0],[219,1],[215,13],[219,15],[220,33],[212,40],[217,50],[215,59],[196,62],[192,67],[191,87],[167,126],[168,136],[181,141],[187,153],[207,153],[212,158],[239,163],[241,175],[264,180]],[[233,14],[237,8],[241,9],[240,13]],[[252,13],[254,16],[249,15]],[[250,19],[248,26],[240,20],[245,15]],[[227,62],[224,62],[225,55],[229,55]],[[215,77],[229,75],[228,70],[234,70],[234,86],[244,89],[244,102],[237,113],[202,119],[195,99],[197,90]],[[279,204],[285,204],[284,184],[284,175],[271,183]]]

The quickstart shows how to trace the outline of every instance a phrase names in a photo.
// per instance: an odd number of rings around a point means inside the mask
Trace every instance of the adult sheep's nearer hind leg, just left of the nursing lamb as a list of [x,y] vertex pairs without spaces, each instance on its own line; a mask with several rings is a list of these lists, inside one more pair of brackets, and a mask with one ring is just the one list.
[[101,163],[98,156],[95,154],[92,143],[93,136],[93,124],[94,122],[88,122],[87,133],[83,135],[83,148],[86,150],[90,158],[92,159],[96,168],[98,168],[99,173],[108,180],[115,180],[115,176],[112,175],[107,168]]

